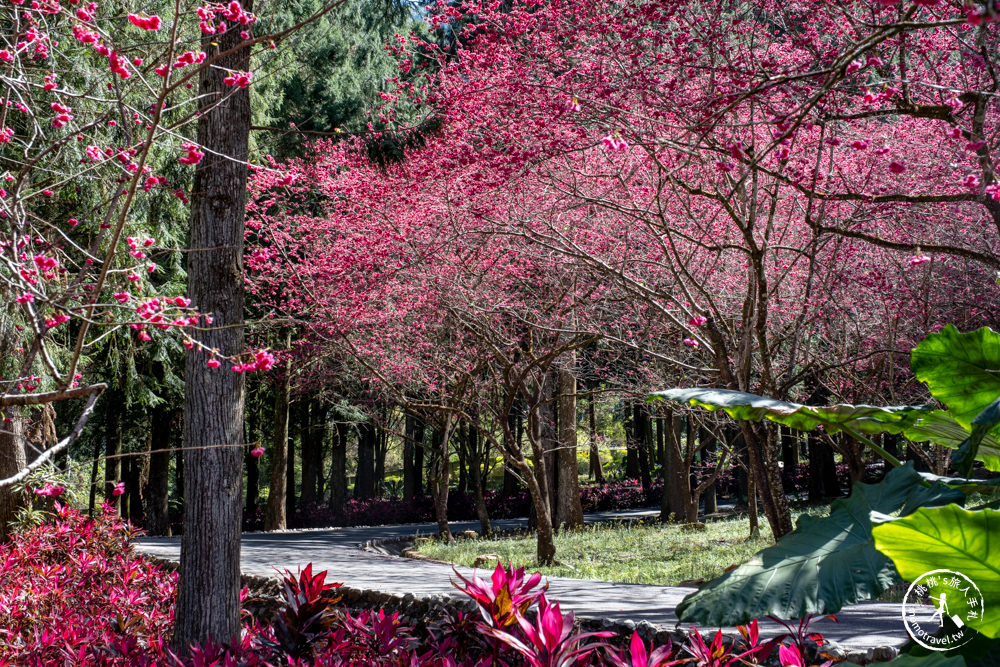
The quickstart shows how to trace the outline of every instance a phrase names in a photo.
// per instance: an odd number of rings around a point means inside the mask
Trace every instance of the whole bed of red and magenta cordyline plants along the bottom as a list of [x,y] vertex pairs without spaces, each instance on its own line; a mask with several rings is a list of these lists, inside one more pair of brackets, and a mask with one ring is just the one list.
[[[176,574],[134,552],[137,531],[110,506],[94,519],[54,506],[50,522],[0,547],[0,665],[730,667],[758,662],[780,639],[760,644],[754,622],[742,640],[717,633],[706,644],[696,631],[683,645],[653,647],[634,633],[616,648],[614,633],[576,632],[540,577],[511,566],[498,566],[490,583],[462,578],[482,620],[449,612],[421,635],[396,612],[337,610],[340,584],[307,565],[286,571],[271,622],[253,621],[235,640],[192,647],[182,659],[169,648]],[[780,660],[804,667],[803,655],[793,643]]]

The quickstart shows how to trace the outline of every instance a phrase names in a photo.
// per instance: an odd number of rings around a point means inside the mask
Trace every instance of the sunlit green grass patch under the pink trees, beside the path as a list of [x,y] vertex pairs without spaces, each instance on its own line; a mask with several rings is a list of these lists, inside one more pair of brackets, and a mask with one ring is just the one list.
[[[793,517],[804,512],[823,516],[829,507],[793,511]],[[761,536],[754,540],[747,539],[750,524],[746,516],[711,521],[705,530],[696,531],[635,521],[592,524],[556,535],[560,564],[550,567],[535,565],[534,535],[458,540],[450,545],[431,540],[419,544],[418,551],[435,560],[469,567],[477,556],[496,554],[505,563],[550,576],[676,586],[682,581],[717,577],[730,565],[745,563],[773,544],[763,516],[761,522]]]

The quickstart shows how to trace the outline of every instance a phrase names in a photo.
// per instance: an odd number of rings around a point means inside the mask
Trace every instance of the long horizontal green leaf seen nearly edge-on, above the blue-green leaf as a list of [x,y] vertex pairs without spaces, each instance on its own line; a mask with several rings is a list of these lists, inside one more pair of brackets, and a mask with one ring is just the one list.
[[[779,401],[732,389],[698,387],[658,391],[650,400],[669,400],[697,405],[706,410],[723,410],[733,419],[761,421],[769,419],[801,431],[822,426],[828,433],[851,430],[865,435],[893,433],[913,442],[933,442],[958,449],[969,440],[969,430],[944,410],[919,405],[850,405],[810,406]],[[984,434],[976,458],[987,469],[1000,471],[1000,441]]]

